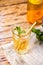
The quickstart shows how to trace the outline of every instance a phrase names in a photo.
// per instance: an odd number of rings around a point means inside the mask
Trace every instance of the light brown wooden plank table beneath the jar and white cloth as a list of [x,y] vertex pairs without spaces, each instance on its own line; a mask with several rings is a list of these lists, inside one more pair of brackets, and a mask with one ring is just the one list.
[[[15,3],[14,3],[15,2]],[[1,0],[0,1],[0,27],[2,27],[2,31],[0,31],[0,35],[3,35],[5,33],[8,33],[9,30],[11,30],[9,25],[12,25],[16,23],[15,21],[25,21],[25,14],[27,4],[26,0]],[[22,17],[23,16],[23,17]],[[20,20],[19,20],[20,19]],[[1,39],[1,38],[0,38]],[[12,37],[5,38],[3,36],[2,41],[0,41],[0,46],[6,43],[3,42],[10,42],[12,40]],[[4,55],[4,50],[0,49],[0,65],[10,65],[9,61]]]

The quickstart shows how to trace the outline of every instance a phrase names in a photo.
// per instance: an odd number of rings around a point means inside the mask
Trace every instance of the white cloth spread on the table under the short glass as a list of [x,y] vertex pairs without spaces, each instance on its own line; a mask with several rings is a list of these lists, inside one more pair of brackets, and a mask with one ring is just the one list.
[[2,47],[11,65],[43,65],[43,45],[35,45],[25,55],[17,54],[13,49],[13,43],[6,44]]

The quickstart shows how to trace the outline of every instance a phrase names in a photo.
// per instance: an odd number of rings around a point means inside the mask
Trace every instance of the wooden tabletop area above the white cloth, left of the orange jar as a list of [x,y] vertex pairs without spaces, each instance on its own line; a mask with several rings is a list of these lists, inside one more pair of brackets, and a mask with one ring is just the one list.
[[27,0],[0,0],[0,45],[12,41],[11,27],[26,22]]

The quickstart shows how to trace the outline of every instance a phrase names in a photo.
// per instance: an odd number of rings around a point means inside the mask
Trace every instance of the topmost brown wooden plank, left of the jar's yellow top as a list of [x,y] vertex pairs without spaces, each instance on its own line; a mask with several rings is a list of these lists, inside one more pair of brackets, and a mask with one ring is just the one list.
[[9,6],[22,2],[27,2],[27,0],[0,0],[0,6]]

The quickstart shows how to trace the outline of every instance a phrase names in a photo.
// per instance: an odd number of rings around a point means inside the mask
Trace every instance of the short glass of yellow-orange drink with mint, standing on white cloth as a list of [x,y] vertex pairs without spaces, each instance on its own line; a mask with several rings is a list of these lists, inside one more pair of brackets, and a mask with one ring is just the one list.
[[25,35],[30,26],[27,22],[17,23],[13,26],[14,49],[20,54],[27,53],[32,48],[32,43],[29,43],[31,33]]

